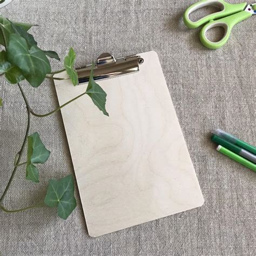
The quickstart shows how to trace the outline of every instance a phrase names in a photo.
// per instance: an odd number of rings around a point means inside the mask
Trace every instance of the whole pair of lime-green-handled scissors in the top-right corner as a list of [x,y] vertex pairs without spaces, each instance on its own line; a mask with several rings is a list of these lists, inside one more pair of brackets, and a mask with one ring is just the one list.
[[[190,20],[188,16],[191,12],[208,5],[218,6],[220,11],[207,15],[197,22]],[[198,28],[200,25],[206,23],[200,31],[200,41],[207,48],[218,49],[227,42],[233,26],[250,18],[253,14],[256,14],[256,3],[247,5],[247,3],[230,4],[223,0],[201,0],[187,8],[183,20],[185,25],[190,29]],[[206,31],[215,26],[221,26],[225,30],[223,38],[218,42],[212,42],[206,37]]]

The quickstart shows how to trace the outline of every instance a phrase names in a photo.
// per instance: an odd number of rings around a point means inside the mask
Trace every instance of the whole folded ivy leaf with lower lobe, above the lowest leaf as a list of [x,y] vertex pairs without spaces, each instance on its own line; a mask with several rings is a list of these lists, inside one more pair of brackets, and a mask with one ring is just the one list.
[[50,151],[47,150],[42,143],[37,132],[28,137],[28,152],[26,160],[26,179],[34,182],[39,182],[38,169],[33,164],[44,164],[50,156]]

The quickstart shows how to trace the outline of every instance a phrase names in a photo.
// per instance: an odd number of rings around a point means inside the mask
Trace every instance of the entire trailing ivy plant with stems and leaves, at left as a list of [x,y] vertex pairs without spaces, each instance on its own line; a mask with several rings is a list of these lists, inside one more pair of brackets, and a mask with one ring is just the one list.
[[[50,151],[46,149],[38,132],[30,134],[31,115],[38,118],[50,116],[77,98],[87,95],[103,114],[109,116],[105,109],[106,93],[102,87],[93,80],[94,65],[92,64],[89,83],[82,94],[48,113],[41,114],[34,112],[23,91],[23,82],[26,81],[32,87],[38,87],[45,79],[67,79],[53,76],[66,71],[69,76],[68,79],[76,86],[78,85],[78,75],[74,68],[76,52],[72,48],[70,48],[68,55],[64,59],[63,69],[57,71],[51,70],[49,58],[60,61],[58,53],[51,50],[43,50],[38,47],[35,38],[28,32],[32,26],[32,24],[12,22],[8,18],[0,15],[0,44],[2,45],[2,51],[0,52],[0,76],[5,76],[6,81],[10,84],[16,84],[17,90],[21,92],[26,105],[26,112],[28,113],[24,140],[21,149],[15,156],[14,169],[10,174],[10,179],[3,190],[0,199],[0,209],[4,212],[11,213],[36,207],[57,207],[58,216],[62,219],[66,219],[76,208],[74,180],[71,174],[59,180],[49,180],[44,200],[39,201],[35,205],[9,210],[4,206],[4,198],[10,188],[12,180],[15,178],[18,168],[24,167],[24,178],[28,180],[28,182],[39,183],[40,167],[38,164],[44,164],[50,156]],[[2,106],[4,106],[4,100],[0,98],[0,107]],[[21,158],[25,152],[26,161],[21,163]]]

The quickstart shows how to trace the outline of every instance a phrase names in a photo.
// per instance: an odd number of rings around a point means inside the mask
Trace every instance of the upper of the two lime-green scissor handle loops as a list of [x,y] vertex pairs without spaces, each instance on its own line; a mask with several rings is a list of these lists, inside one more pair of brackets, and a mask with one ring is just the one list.
[[[191,14],[191,12],[208,5],[217,5],[221,11],[207,15],[196,22],[192,22],[190,20],[189,15]],[[188,28],[195,29],[208,21],[212,21],[213,19],[226,17],[235,14],[236,12],[243,11],[246,5],[247,3],[230,4],[226,3],[223,0],[201,0],[200,2],[192,4],[190,7],[187,8],[187,10],[184,13],[183,20]]]

